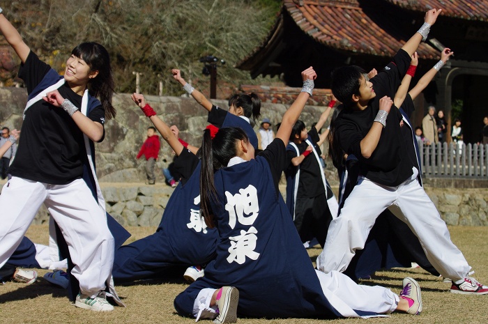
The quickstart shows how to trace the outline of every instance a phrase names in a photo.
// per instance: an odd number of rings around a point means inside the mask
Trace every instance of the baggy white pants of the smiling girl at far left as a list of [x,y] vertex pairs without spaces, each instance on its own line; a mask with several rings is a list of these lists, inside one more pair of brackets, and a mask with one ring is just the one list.
[[44,203],[68,244],[80,291],[95,297],[105,290],[114,263],[114,238],[107,215],[98,206],[84,180],[49,185],[13,177],[0,195],[0,267],[20,244]]

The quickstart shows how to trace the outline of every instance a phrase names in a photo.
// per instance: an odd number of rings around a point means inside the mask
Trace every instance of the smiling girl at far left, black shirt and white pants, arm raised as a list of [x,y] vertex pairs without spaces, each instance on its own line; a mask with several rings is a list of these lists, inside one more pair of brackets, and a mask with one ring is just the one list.
[[[114,237],[95,173],[93,142],[113,118],[109,54],[97,43],[75,47],[60,76],[24,43],[1,14],[0,31],[22,62],[29,101],[22,137],[0,196],[0,266],[15,251],[42,203],[61,229],[79,281],[75,306],[112,311]],[[100,98],[98,100],[96,97]],[[109,292],[105,292],[105,290]]]

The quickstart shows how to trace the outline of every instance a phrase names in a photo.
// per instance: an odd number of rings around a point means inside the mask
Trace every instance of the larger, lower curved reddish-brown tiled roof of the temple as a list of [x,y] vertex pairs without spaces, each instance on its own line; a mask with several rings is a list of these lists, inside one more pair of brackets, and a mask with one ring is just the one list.
[[[284,7],[296,24],[317,42],[357,54],[393,56],[411,36],[395,23],[396,15],[367,8],[367,1],[284,0]],[[388,31],[383,29],[388,27]],[[418,47],[422,59],[439,55],[433,47]]]

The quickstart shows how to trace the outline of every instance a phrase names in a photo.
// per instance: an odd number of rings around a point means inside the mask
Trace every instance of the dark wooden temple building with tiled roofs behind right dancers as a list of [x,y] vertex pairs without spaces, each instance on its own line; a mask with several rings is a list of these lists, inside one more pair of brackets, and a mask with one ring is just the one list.
[[[464,141],[475,143],[488,116],[488,0],[284,0],[268,38],[236,68],[252,77],[278,75],[286,86],[301,87],[300,71],[312,65],[319,73],[316,88],[330,88],[330,72],[339,66],[383,68],[431,8],[443,12],[420,44],[412,84],[439,61],[443,47],[455,56],[415,100],[413,123],[421,124],[429,105],[450,117],[452,103],[462,100]],[[243,88],[280,101],[273,98],[277,88]]]

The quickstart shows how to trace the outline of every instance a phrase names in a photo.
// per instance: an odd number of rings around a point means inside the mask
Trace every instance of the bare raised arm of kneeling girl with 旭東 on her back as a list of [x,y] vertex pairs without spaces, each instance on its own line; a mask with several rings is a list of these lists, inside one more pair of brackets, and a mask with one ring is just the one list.
[[312,95],[312,90],[314,88],[314,79],[317,78],[317,73],[314,68],[310,66],[307,70],[302,72],[303,88],[296,100],[291,104],[289,109],[284,113],[280,129],[276,133],[276,138],[281,139],[284,145],[288,145],[288,141],[291,135],[291,129],[298,121],[298,117],[302,113],[303,107],[307,103],[308,98]]

